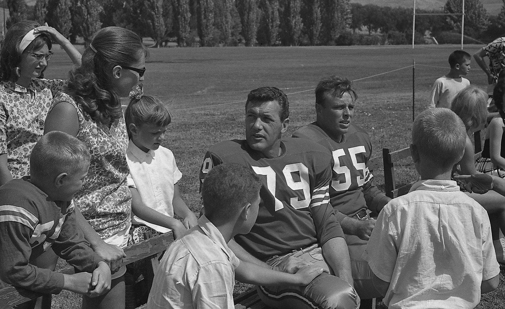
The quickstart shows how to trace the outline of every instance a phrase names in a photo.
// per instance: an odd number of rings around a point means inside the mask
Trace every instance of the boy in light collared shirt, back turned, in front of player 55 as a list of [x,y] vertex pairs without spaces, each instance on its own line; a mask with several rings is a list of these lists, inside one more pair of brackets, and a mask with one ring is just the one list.
[[387,203],[363,254],[390,308],[473,308],[496,289],[486,211],[450,180],[466,130],[448,109],[421,113],[412,128],[412,159],[421,180]]

